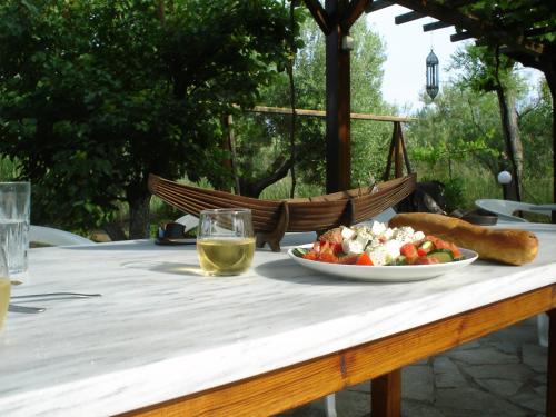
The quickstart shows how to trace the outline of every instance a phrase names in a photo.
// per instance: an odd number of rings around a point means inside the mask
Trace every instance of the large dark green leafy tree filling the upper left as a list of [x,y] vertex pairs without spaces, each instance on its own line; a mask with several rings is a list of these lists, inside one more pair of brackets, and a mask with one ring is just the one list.
[[[145,237],[148,175],[229,181],[221,115],[287,59],[274,0],[0,4],[0,155],[33,183],[33,221]],[[62,216],[61,216],[62,215]]]

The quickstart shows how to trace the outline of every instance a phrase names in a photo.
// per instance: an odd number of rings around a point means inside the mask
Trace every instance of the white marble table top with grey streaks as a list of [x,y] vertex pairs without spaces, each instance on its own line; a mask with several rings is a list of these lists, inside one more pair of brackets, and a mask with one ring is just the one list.
[[[200,275],[195,247],[152,241],[30,250],[13,295],[34,301],[0,332],[0,415],[105,416],[281,368],[556,282],[556,228],[523,267],[477,261],[418,282],[319,276],[258,250],[249,272]],[[290,235],[289,242],[311,236]]]

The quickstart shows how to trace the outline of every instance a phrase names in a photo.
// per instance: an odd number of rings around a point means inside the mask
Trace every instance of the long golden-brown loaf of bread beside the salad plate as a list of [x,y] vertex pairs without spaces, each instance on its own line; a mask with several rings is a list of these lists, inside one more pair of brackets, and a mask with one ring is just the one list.
[[410,226],[425,235],[435,235],[460,248],[475,250],[480,259],[509,265],[530,262],[537,256],[538,239],[525,230],[490,229],[465,220],[429,212],[396,215],[390,227]]

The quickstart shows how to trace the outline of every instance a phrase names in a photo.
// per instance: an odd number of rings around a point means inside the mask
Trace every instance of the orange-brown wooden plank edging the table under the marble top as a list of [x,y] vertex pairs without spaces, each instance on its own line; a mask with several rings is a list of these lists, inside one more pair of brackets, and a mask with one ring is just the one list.
[[[555,308],[556,284],[301,364],[126,413],[123,416],[268,416],[389,374]],[[553,330],[554,321],[550,327]],[[550,338],[553,341],[554,331]],[[552,346],[550,358],[554,359],[554,344]],[[550,364],[553,381],[556,369],[554,360]],[[187,373],[187,369],[176,371]],[[553,385],[550,389],[549,394],[554,394]],[[554,408],[554,400],[552,407]],[[554,414],[548,416],[555,417]]]

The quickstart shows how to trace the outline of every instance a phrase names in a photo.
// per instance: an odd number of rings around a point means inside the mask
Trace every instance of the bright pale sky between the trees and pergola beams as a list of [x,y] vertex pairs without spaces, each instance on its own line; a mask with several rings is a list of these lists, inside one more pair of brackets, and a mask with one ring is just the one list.
[[[408,11],[410,10],[395,4],[365,14],[367,22],[386,44],[387,61],[384,66],[383,98],[401,108],[401,113],[409,113],[423,106],[419,96],[425,91],[425,60],[430,48],[433,47],[439,60],[441,90],[443,83],[449,79],[446,66],[450,61],[450,56],[458,48],[464,48],[466,42],[473,42],[473,40],[451,42],[450,34],[455,33],[454,27],[424,32],[423,24],[436,21],[433,18],[417,19],[404,24],[394,22],[396,16]],[[522,71],[532,79],[540,77],[537,70]]]

